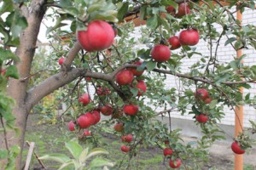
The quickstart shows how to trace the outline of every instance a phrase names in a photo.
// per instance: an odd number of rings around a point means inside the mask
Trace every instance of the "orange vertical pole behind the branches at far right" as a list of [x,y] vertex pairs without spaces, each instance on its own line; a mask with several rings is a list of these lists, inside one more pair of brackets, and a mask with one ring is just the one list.
[[[241,22],[242,20],[242,14],[241,11],[237,11],[236,13],[236,19]],[[237,59],[240,58],[242,55],[241,49],[236,51]],[[243,62],[243,61],[241,61]],[[243,94],[243,88],[240,88],[240,93]],[[240,132],[242,132],[242,126],[243,126],[243,106],[237,105],[236,106],[236,116],[235,116],[235,136],[237,136]],[[235,170],[242,170],[243,169],[243,155],[237,155],[235,154]]]

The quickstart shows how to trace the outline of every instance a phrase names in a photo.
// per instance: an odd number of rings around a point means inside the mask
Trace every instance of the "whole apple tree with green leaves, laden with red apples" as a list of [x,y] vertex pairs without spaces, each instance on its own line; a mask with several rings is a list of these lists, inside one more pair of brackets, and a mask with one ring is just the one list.
[[[186,169],[200,168],[194,162],[204,160],[205,149],[224,138],[219,134],[224,130],[217,124],[225,115],[224,105],[234,111],[236,105],[255,105],[254,98],[249,94],[243,98],[240,93],[241,87],[251,88],[255,82],[255,65],[242,64],[246,55],[227,63],[218,59],[224,37],[228,37],[225,44],[235,51],[256,47],[255,26],[241,26],[234,16],[236,10],[253,8],[253,0],[230,1],[228,6],[218,0],[3,0],[1,95],[6,97],[7,89],[15,107],[13,115],[7,116],[4,110],[10,109],[4,105],[9,105],[9,100],[1,98],[2,165],[9,166],[7,160],[13,153],[9,146],[16,145],[20,154],[15,151],[15,166],[20,169],[27,116],[40,100],[62,88],[73,109],[73,114],[67,116],[68,127],[74,133],[90,136],[88,128],[96,126],[101,114],[111,116],[101,126],[114,125],[124,142],[120,150],[130,159],[139,153],[138,146],[157,145],[170,167],[183,164]],[[55,26],[47,31],[52,42],[49,54],[40,57],[52,60],[49,67],[53,62],[61,65],[51,66],[54,71],[46,77],[40,77],[42,71],[34,68],[43,20],[53,20]],[[145,26],[132,34],[133,21]],[[217,29],[216,25],[221,27]],[[196,51],[200,40],[207,44],[209,54]],[[184,59],[195,57],[199,60],[190,71],[183,71]],[[35,77],[40,78],[35,81]],[[165,81],[170,77],[177,77],[182,88],[166,88]],[[196,145],[183,144],[178,130],[156,119],[171,118],[173,111],[194,116],[204,133]],[[250,132],[255,133],[255,127],[252,122]],[[20,134],[12,138],[15,129]],[[250,147],[252,141],[246,131],[232,144],[234,152],[240,154]]]

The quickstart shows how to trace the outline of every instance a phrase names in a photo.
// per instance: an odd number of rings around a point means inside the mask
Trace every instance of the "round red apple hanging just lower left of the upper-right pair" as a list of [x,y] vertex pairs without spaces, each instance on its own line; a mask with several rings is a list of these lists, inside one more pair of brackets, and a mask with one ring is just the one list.
[[171,50],[166,45],[155,45],[150,52],[156,62],[165,62],[171,57]]

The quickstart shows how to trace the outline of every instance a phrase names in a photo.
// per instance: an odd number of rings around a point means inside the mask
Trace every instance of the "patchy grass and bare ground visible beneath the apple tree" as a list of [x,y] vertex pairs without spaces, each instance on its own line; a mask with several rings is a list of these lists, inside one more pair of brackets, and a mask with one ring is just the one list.
[[[30,114],[28,116],[28,124],[26,127],[26,141],[35,142],[36,153],[38,156],[44,156],[49,153],[64,153],[68,155],[68,151],[64,147],[64,143],[70,139],[73,139],[75,135],[67,130],[67,122],[57,123],[51,125],[44,123],[38,126],[38,120],[41,117],[39,114]],[[125,169],[128,163],[128,156],[125,156],[120,150],[122,145],[120,139],[111,133],[112,127],[105,129],[105,133],[102,133],[101,142],[99,147],[102,147],[110,153],[108,159],[115,161],[117,165],[123,160],[121,167],[113,167],[111,169]],[[183,136],[184,142],[195,140],[188,136]],[[25,146],[23,153],[24,159],[26,158],[28,146]],[[254,170],[256,169],[256,150],[253,149],[250,154],[244,155],[244,169]],[[210,149],[209,162],[201,162],[203,164],[203,170],[218,169],[218,170],[232,170],[234,154],[230,150],[229,142],[216,142]],[[24,160],[25,161],[25,160]],[[138,166],[137,166],[138,162]],[[200,162],[199,162],[200,163]],[[44,161],[44,165],[47,169],[57,169],[59,164],[55,161]],[[131,169],[167,169],[168,161],[164,162],[164,156],[162,150],[158,147],[142,148],[139,156],[135,156],[131,161]],[[215,168],[214,168],[215,167]],[[30,169],[43,169],[38,164],[35,156],[32,157],[32,163]]]

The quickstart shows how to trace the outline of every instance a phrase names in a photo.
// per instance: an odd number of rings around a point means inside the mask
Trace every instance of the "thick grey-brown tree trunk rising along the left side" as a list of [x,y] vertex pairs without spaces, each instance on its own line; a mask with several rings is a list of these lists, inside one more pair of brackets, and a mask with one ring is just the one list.
[[[22,10],[26,16],[28,26],[20,35],[20,46],[16,48],[15,54],[20,58],[20,62],[15,62],[20,74],[20,79],[30,75],[32,59],[38,40],[38,32],[43,20],[45,8],[44,0],[32,1],[31,7]],[[21,166],[21,153],[24,145],[26,131],[26,119],[32,109],[32,105],[26,103],[28,80],[20,81],[15,79],[9,80],[8,94],[15,99],[16,105],[13,114],[16,117],[15,127],[20,129],[20,135],[13,139],[14,133],[8,133],[9,145],[18,144],[20,146],[20,155],[16,160],[16,168]],[[0,139],[1,148],[5,148],[3,139]]]

